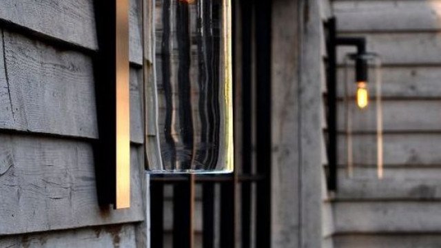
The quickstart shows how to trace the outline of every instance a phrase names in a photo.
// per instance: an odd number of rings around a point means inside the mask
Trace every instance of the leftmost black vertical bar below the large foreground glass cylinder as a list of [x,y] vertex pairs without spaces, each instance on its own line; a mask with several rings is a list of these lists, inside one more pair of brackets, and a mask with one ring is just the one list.
[[150,246],[162,248],[164,238],[164,184],[161,181],[150,182]]

